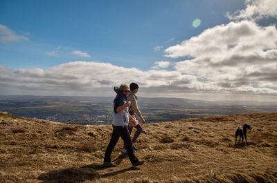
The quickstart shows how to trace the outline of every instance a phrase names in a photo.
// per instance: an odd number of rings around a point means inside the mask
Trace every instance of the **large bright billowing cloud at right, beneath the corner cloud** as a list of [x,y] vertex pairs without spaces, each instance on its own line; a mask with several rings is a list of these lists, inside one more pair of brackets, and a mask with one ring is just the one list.
[[261,51],[261,48],[269,50],[276,48],[275,33],[274,26],[260,27],[252,21],[231,22],[167,48],[166,57],[222,57],[238,50],[242,55]]

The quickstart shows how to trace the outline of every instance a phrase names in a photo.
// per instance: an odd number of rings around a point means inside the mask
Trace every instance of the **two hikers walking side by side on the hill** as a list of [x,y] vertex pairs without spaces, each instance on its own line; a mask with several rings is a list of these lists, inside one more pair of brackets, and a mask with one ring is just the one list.
[[[113,132],[111,133],[111,139],[107,146],[104,166],[116,166],[116,164],[111,162],[111,153],[114,150],[114,146],[118,142],[119,137],[123,139],[123,155],[129,157],[133,166],[142,165],[144,160],[140,161],[134,155],[134,150],[137,148],[134,146],[136,139],[139,137],[143,128],[136,119],[136,115],[141,118],[141,122],[144,124],[145,119],[141,115],[137,104],[136,93],[139,91],[139,85],[132,83],[129,86],[127,84],[121,84],[120,87],[114,87],[116,92],[116,98],[114,99],[114,119],[112,122]],[[132,133],[133,127],[136,128],[136,133],[131,139],[130,134]]]

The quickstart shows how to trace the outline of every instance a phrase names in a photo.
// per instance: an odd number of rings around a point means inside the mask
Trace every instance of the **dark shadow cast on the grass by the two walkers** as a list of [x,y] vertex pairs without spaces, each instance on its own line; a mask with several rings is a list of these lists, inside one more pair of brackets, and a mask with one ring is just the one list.
[[[114,162],[116,164],[120,164],[125,157],[123,155],[119,155]],[[56,171],[50,171],[48,173],[42,173],[39,175],[38,180],[42,180],[42,183],[50,183],[50,182],[84,182],[85,180],[95,180],[96,178],[105,178],[114,175],[118,175],[120,173],[124,173],[126,171],[136,171],[139,168],[129,167],[124,168],[119,171],[109,171],[109,173],[100,174],[98,171],[103,170],[105,167],[102,164],[89,164],[87,166],[82,166],[79,168],[65,168],[59,169]]]

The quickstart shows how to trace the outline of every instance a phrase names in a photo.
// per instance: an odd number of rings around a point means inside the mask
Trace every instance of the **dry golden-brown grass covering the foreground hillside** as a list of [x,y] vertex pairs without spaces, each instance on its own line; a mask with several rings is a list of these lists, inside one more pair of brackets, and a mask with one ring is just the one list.
[[[251,124],[247,146],[235,129]],[[277,113],[145,124],[133,168],[120,139],[104,168],[111,126],[60,124],[0,113],[0,182],[277,182]]]

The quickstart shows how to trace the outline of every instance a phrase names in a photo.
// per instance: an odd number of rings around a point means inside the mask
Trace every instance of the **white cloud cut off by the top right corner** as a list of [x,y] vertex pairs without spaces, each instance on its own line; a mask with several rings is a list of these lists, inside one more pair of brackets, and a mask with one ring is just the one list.
[[233,15],[228,12],[227,17],[233,20],[277,18],[276,0],[245,0],[245,4],[246,9],[238,10]]

